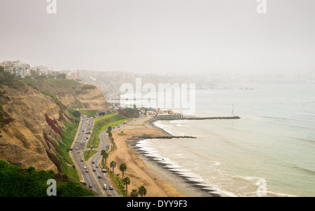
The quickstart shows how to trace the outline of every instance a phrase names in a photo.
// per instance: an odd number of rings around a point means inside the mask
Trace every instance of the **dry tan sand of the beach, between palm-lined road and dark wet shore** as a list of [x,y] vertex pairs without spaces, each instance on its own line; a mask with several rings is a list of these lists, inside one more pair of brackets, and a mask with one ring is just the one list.
[[[138,189],[139,186],[144,185],[147,190],[147,197],[181,197],[184,196],[179,193],[172,184],[167,184],[162,181],[162,178],[152,175],[148,171],[146,164],[139,155],[132,151],[128,147],[128,142],[135,136],[141,135],[167,135],[166,132],[155,128],[151,123],[148,123],[148,119],[143,118],[135,123],[126,125],[120,130],[116,130],[113,133],[114,142],[116,144],[116,149],[114,149],[109,158],[107,159],[107,166],[111,161],[116,161],[116,168],[114,168],[114,174],[120,174],[122,177],[122,172],[119,170],[119,165],[121,163],[126,163],[127,170],[124,172],[124,177],[130,177],[130,185],[128,188],[128,195],[132,189]],[[118,135],[123,131],[127,135]]]

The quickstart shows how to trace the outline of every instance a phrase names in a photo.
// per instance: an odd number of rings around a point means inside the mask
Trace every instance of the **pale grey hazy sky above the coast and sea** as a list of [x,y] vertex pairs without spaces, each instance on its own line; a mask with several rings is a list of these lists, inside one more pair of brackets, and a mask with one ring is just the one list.
[[0,1],[0,62],[139,73],[315,72],[315,1]]

